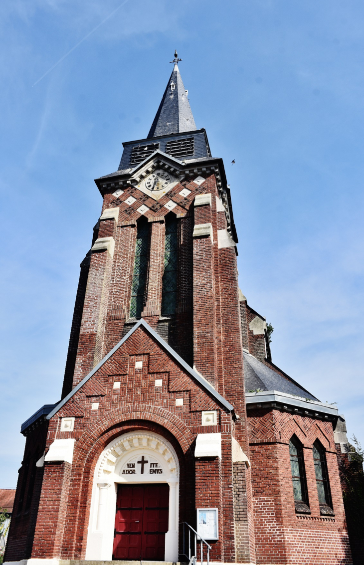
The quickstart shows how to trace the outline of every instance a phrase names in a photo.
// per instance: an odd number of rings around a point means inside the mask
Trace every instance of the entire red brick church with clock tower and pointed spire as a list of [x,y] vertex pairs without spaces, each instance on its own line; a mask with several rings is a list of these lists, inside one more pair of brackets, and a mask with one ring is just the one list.
[[21,427],[4,561],[352,563],[337,409],[272,362],[178,62],[95,181],[62,397]]

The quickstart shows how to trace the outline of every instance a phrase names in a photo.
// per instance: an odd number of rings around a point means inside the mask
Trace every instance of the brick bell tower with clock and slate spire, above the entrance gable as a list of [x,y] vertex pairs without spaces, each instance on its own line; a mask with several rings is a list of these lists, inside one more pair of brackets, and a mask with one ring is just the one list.
[[225,394],[230,376],[242,379],[224,346],[235,335],[241,358],[237,236],[222,159],[196,128],[178,64],[148,137],[123,146],[118,171],[96,179],[102,214],[81,263],[62,397],[140,319]]

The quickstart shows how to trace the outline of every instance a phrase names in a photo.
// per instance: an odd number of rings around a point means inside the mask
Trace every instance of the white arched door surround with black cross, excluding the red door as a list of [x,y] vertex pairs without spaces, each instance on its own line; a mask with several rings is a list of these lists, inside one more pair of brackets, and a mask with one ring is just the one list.
[[[138,458],[148,456],[141,473]],[[125,433],[100,455],[93,477],[86,560],[112,560],[118,484],[167,483],[170,486],[165,561],[178,561],[179,463],[170,442],[144,431]]]

